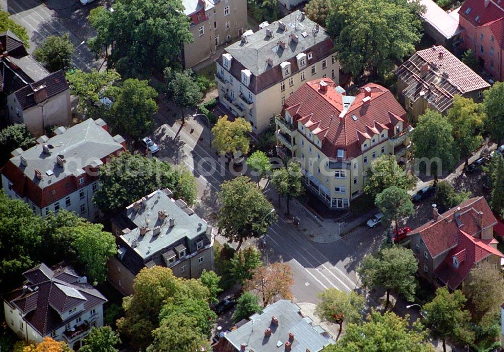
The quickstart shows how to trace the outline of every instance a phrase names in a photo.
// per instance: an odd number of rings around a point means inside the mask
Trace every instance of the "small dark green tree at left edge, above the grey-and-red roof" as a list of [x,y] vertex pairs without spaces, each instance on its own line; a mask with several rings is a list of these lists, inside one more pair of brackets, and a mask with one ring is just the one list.
[[35,138],[24,123],[9,125],[0,131],[0,165],[11,157],[11,152],[21,148],[27,150],[35,145]]

